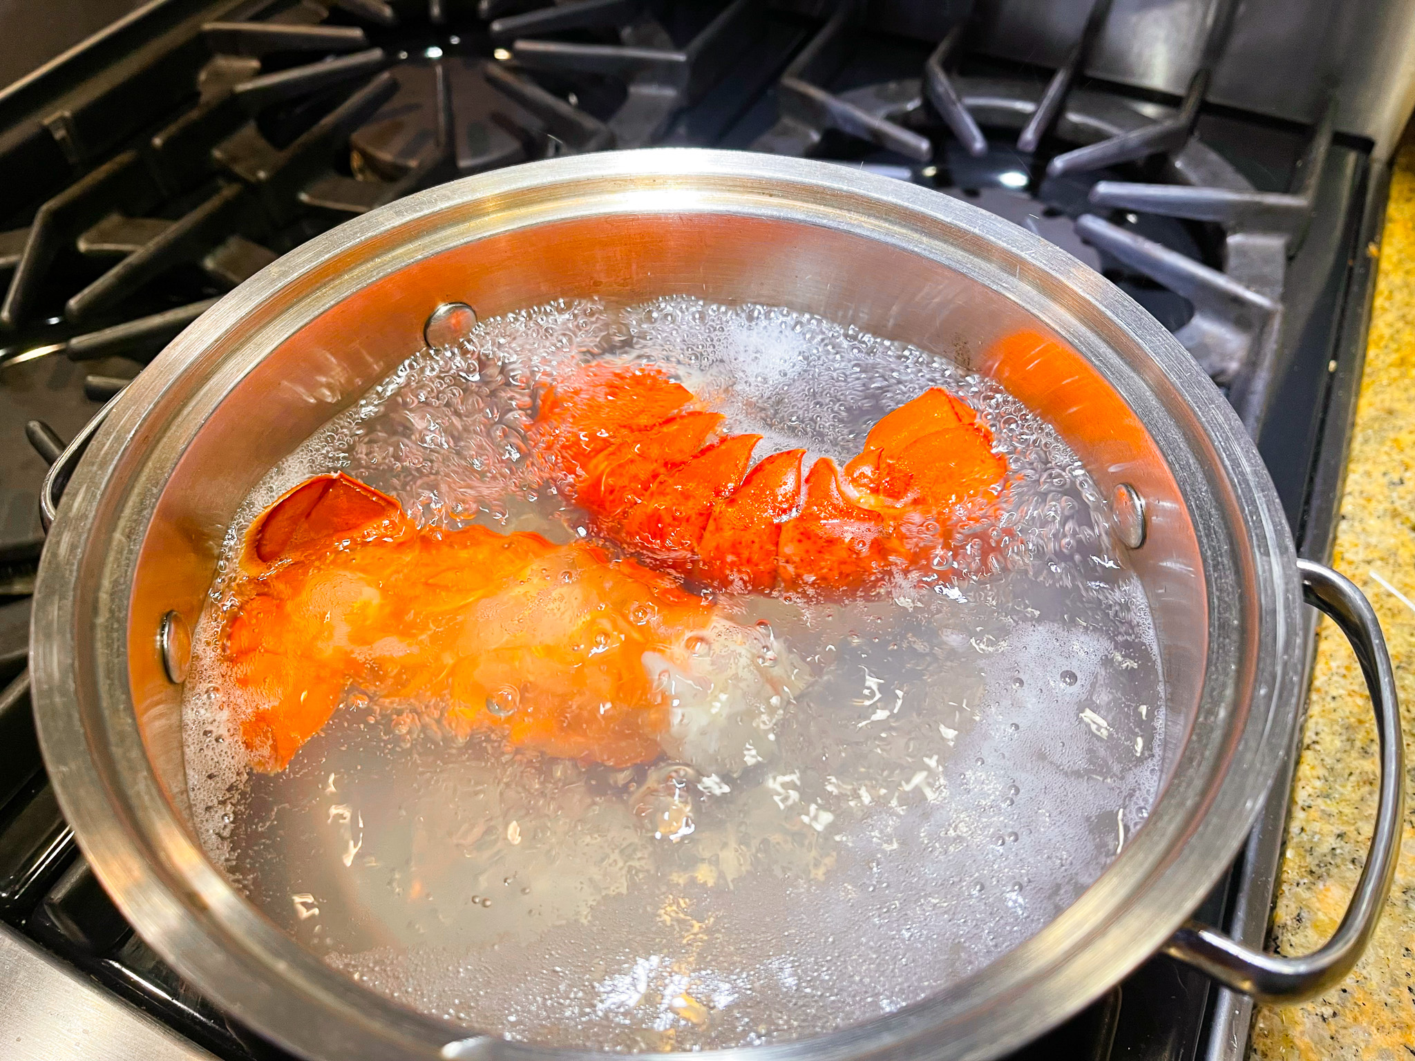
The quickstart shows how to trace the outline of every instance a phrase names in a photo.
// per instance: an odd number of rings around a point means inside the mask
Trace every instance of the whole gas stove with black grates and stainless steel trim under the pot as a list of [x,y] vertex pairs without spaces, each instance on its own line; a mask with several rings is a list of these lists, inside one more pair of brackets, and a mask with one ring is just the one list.
[[[1143,4],[1036,7],[157,0],[0,92],[0,968],[34,985],[0,1013],[0,1033],[14,1031],[0,1041],[20,1057],[283,1057],[132,932],[58,811],[24,671],[37,497],[99,405],[216,297],[419,188],[695,144],[824,158],[974,202],[1087,262],[1176,334],[1257,439],[1299,552],[1324,559],[1380,158],[1408,112],[1405,95],[1371,103],[1390,48],[1343,85],[1317,76],[1330,64],[1305,38],[1283,37],[1298,74],[1274,93],[1245,78],[1257,16],[1235,0],[1172,4],[1167,62],[1132,40]],[[1361,21],[1373,6],[1350,7],[1332,16],[1334,40],[1398,33]],[[1289,784],[1199,914],[1252,945]],[[86,1045],[69,1014],[91,1023]],[[1249,1016],[1155,958],[1017,1057],[1237,1058]]]

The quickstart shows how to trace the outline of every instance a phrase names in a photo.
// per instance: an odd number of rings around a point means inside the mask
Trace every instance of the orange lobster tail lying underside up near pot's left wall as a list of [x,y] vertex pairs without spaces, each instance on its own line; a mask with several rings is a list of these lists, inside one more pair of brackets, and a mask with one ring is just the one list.
[[225,659],[252,764],[283,770],[344,696],[446,705],[457,731],[624,767],[657,758],[666,703],[647,652],[713,615],[671,576],[603,550],[484,526],[419,530],[345,475],[252,525]]

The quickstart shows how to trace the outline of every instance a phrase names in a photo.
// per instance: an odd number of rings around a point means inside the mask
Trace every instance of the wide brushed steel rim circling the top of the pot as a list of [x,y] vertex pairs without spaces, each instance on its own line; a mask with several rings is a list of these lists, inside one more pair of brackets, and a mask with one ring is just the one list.
[[[733,191],[734,185],[740,185]],[[1241,556],[1257,604],[1252,659],[1206,676],[1245,710],[1223,733],[1227,768],[1217,788],[1189,792],[1160,826],[1155,812],[1124,853],[1047,928],[947,990],[865,1024],[766,1047],[705,1051],[737,1058],[995,1057],[1071,1016],[1129,973],[1199,905],[1242,845],[1298,724],[1300,591],[1296,555],[1276,491],[1257,448],[1217,388],[1153,317],[1114,284],[1026,229],[942,194],[848,167],[705,149],[645,149],[529,163],[468,177],[408,197],[317,236],[225,296],[187,328],[113,406],[69,481],[50,533],[34,594],[31,695],[41,748],[59,805],[79,846],[139,934],[183,976],[222,1007],[283,1047],[307,1057],[600,1057],[475,1036],[358,987],[300,948],[226,883],[167,801],[137,731],[126,683],[127,603],[143,514],[150,518],[181,450],[161,434],[157,414],[195,406],[209,386],[174,398],[183,373],[218,341],[269,354],[280,341],[348,291],[396,272],[392,255],[410,233],[422,255],[491,231],[532,229],[549,216],[535,209],[498,215],[518,192],[577,194],[579,214],[683,214],[736,209],[825,224],[893,242],[948,265],[968,253],[930,232],[982,240],[1016,272],[989,269],[985,282],[1034,313],[1092,365],[1121,356],[1098,337],[1140,351],[1136,371],[1149,392],[1170,398],[1191,437],[1166,457],[1180,481],[1208,471],[1231,489],[1231,518],[1242,530]],[[477,208],[484,212],[477,214]],[[563,209],[562,204],[562,209]],[[485,211],[491,212],[485,212]],[[549,208],[546,208],[549,209]],[[563,212],[555,219],[566,216]],[[477,228],[481,225],[481,228]],[[499,228],[487,228],[501,225]],[[422,233],[422,235],[417,235]],[[403,242],[399,242],[399,240]],[[328,276],[351,249],[369,255],[357,273]],[[313,277],[320,277],[311,287]],[[300,284],[306,293],[299,293]],[[342,284],[342,287],[341,287]],[[1040,284],[1053,286],[1050,296]],[[1057,301],[1065,290],[1068,307]],[[282,297],[289,304],[282,306]],[[294,301],[289,301],[294,298]],[[301,301],[303,298],[303,301]],[[1087,323],[1081,323],[1081,315]],[[1139,358],[1136,358],[1139,359]],[[1098,365],[1098,368],[1101,368]],[[1112,372],[1102,373],[1115,383]],[[1139,376],[1136,376],[1139,379]],[[190,383],[190,381],[187,381]],[[211,381],[204,381],[211,382]],[[200,393],[198,393],[200,392]],[[219,398],[216,399],[219,402]],[[1155,399],[1157,400],[1157,399]],[[185,407],[185,406],[184,406]],[[1138,413],[1145,419],[1143,413]],[[1146,419],[1146,427],[1153,424]],[[1196,446],[1201,453],[1194,454]],[[1194,468],[1173,467],[1186,450]],[[163,450],[156,457],[153,450]],[[146,454],[146,457],[144,457]],[[160,481],[139,482],[137,461],[166,461]],[[144,465],[146,467],[146,465]],[[1215,515],[1214,519],[1218,519]],[[136,538],[142,538],[140,533]],[[1206,564],[1208,557],[1206,556]],[[95,579],[95,572],[100,577]],[[126,574],[126,581],[125,581]],[[96,583],[96,584],[95,584]],[[1207,579],[1213,632],[1234,620],[1242,596]],[[1214,669],[1214,668],[1210,668]],[[1242,672],[1242,673],[1240,673]],[[1240,683],[1242,688],[1237,688]],[[1217,695],[1217,693],[1215,693]],[[1186,741],[1187,744],[1187,741]],[[1217,750],[1214,754],[1220,754]],[[1193,785],[1187,787],[1193,789]],[[467,1036],[460,1038],[460,1036]],[[664,1055],[668,1057],[668,1055]]]

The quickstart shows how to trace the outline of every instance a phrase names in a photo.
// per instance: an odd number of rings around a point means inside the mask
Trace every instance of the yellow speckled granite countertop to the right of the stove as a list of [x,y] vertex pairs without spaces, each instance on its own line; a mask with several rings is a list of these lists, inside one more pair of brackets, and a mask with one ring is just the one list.
[[[1391,175],[1375,307],[1333,566],[1370,597],[1395,665],[1407,761],[1415,764],[1415,141]],[[1375,812],[1375,726],[1356,656],[1330,620],[1298,763],[1272,937],[1320,945],[1346,911]],[[1409,778],[1407,772],[1407,791]],[[1380,928],[1327,995],[1255,1017],[1249,1061],[1415,1057],[1415,798]]]

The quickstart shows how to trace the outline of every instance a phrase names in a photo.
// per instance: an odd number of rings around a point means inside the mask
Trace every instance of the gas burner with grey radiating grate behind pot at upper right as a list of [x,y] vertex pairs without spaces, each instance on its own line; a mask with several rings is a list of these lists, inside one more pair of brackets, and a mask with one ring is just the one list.
[[[1104,14],[1104,3],[1097,10]],[[825,31],[815,44],[824,38]],[[1319,124],[1290,194],[1257,191],[1187,126],[1167,154],[1146,158],[1146,171],[1160,182],[1118,180],[1122,167],[1135,168],[1136,144],[1169,144],[1163,137],[1176,136],[1176,122],[1191,124],[1183,108],[1170,115],[1115,95],[1071,91],[1065,71],[1041,92],[1022,79],[949,76],[940,62],[949,47],[945,38],[920,79],[822,93],[832,103],[814,112],[814,122],[804,120],[792,102],[797,89],[790,86],[778,98],[777,124],[753,146],[815,154],[832,130],[850,133],[894,156],[866,164],[1030,228],[1159,317],[1228,389],[1240,416],[1255,430],[1276,354],[1286,263],[1312,212],[1334,110],[1329,108]],[[1043,105],[1056,113],[1046,113]],[[989,140],[982,129],[1020,129],[1020,141],[1037,147],[1026,151],[998,137]],[[1156,129],[1163,137],[1149,137]],[[1057,143],[1071,147],[1057,151]],[[1092,212],[1097,208],[1107,208],[1108,215]],[[1203,222],[1213,231],[1196,239],[1193,226],[1183,222]]]

